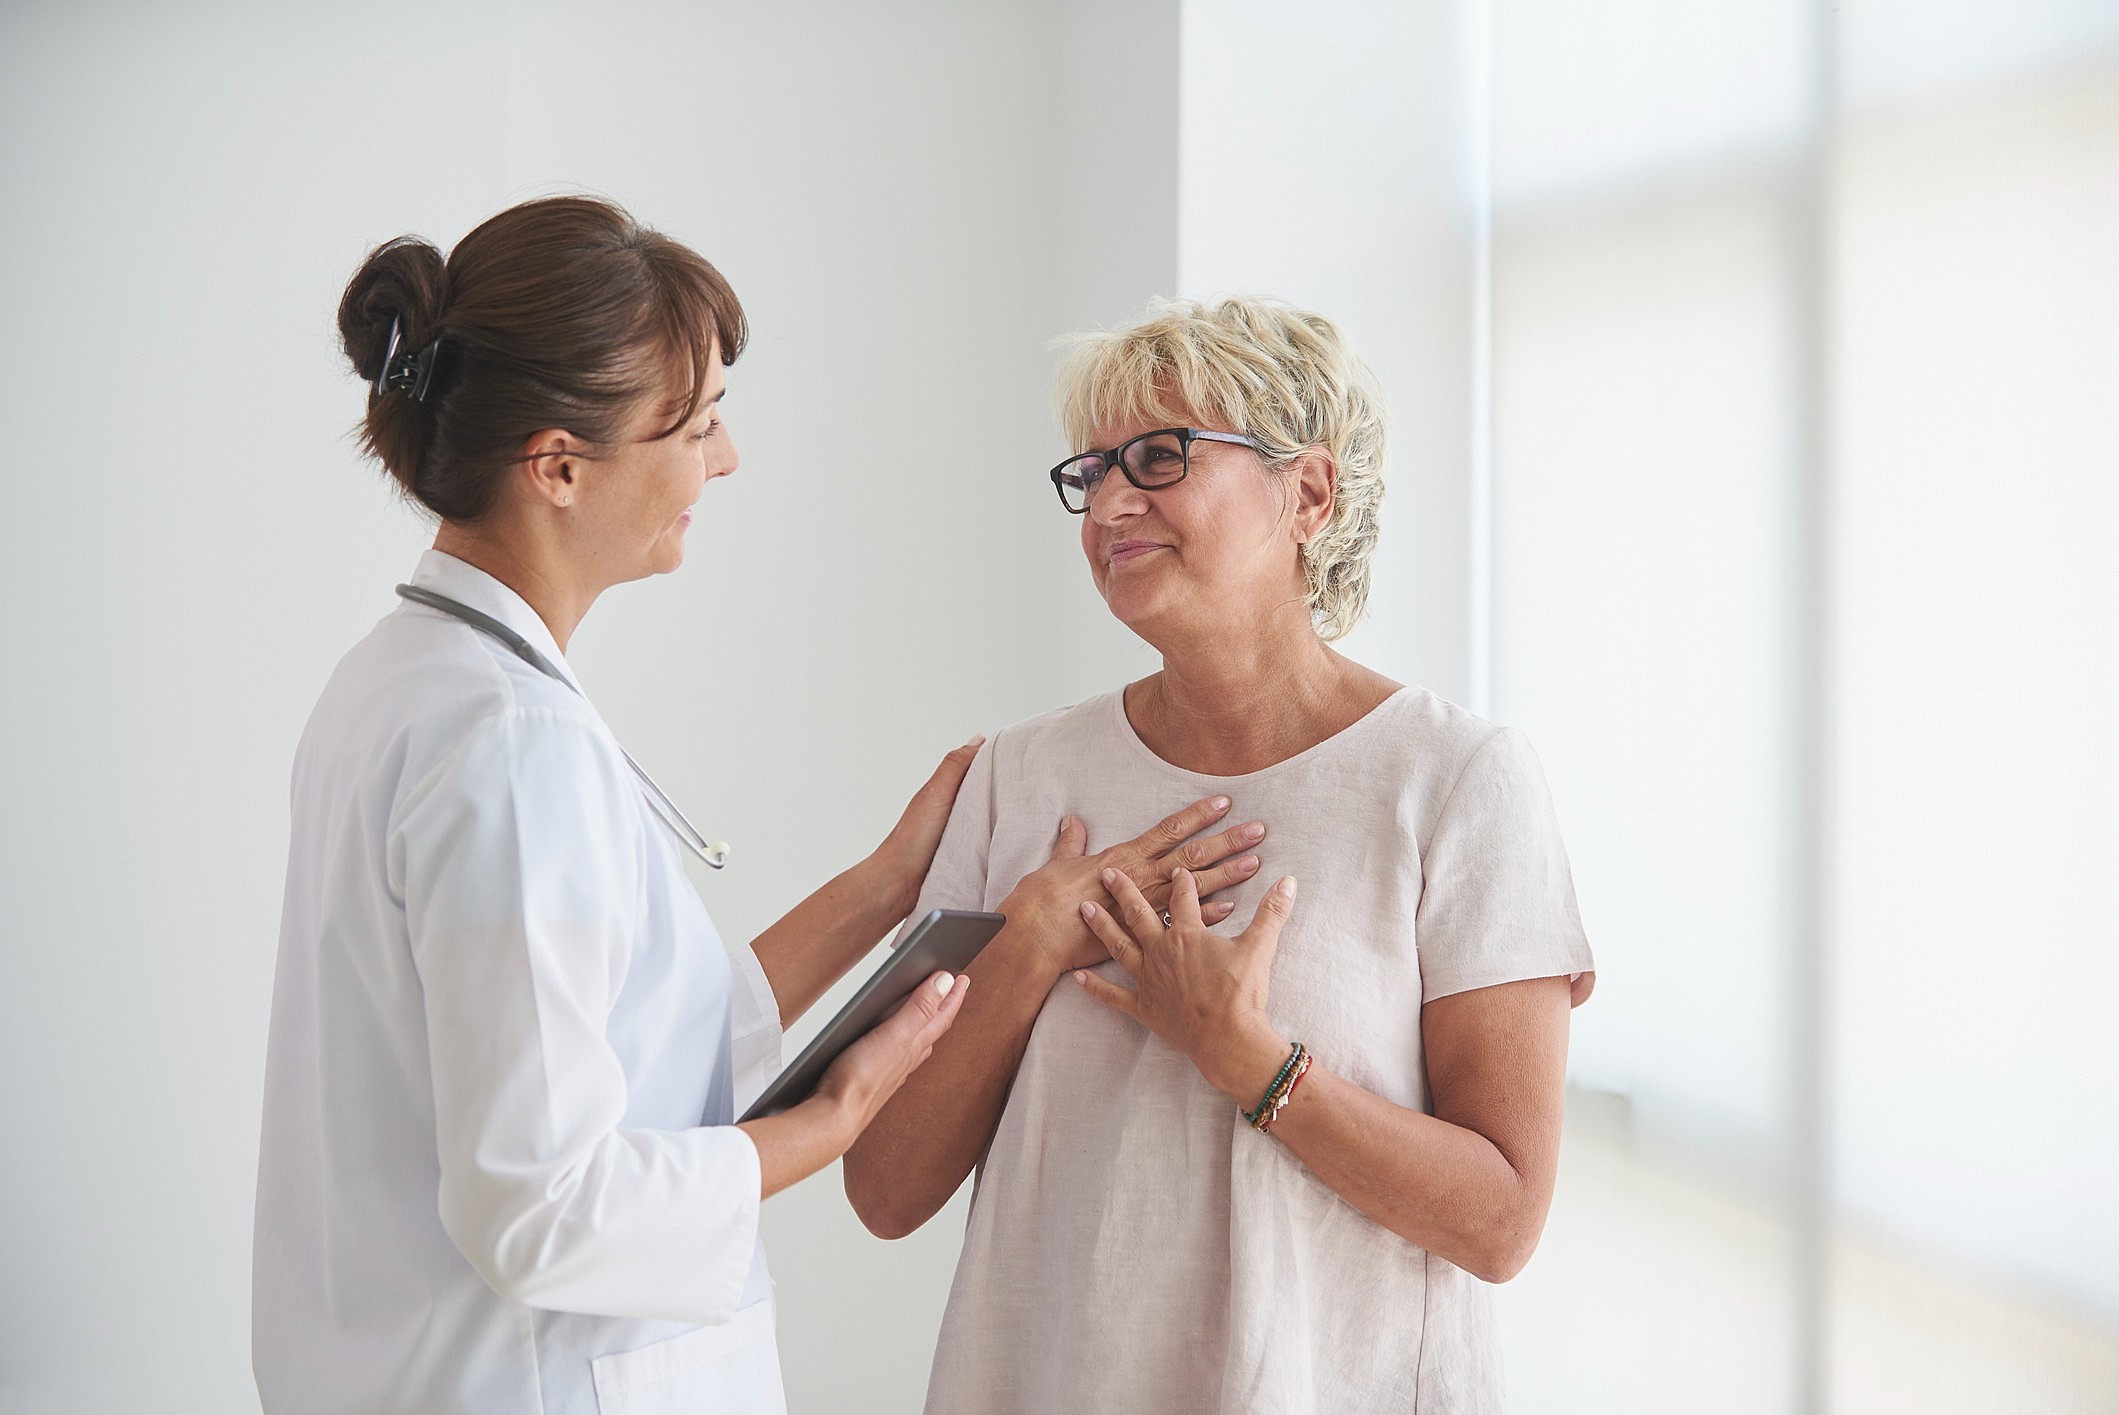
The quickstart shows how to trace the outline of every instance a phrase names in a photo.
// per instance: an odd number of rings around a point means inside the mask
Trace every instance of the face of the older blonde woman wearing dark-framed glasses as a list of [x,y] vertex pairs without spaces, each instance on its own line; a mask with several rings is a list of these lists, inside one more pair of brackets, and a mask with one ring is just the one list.
[[[1172,426],[1182,417],[1098,428],[1093,447]],[[1206,642],[1276,608],[1303,606],[1297,506],[1284,474],[1259,453],[1195,441],[1185,481],[1142,491],[1112,470],[1081,517],[1081,549],[1104,604],[1163,652]]]

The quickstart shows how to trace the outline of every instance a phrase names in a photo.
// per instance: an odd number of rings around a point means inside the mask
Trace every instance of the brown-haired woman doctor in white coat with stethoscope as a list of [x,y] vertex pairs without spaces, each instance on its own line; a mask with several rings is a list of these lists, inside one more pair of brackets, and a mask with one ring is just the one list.
[[[735,1125],[780,1027],[913,904],[975,744],[873,856],[727,949],[704,841],[566,667],[735,470],[744,314],[589,199],[339,309],[364,445],[441,521],[295,760],[259,1163],[265,1411],[780,1411],[759,1203],[839,1157],[956,1017],[937,974],[820,1093]],[[704,854],[712,854],[706,847]]]

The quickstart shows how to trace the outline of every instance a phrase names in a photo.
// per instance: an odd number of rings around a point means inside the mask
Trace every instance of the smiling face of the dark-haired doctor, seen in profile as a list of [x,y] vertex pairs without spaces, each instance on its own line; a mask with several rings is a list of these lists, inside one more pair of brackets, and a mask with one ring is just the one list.
[[735,470],[735,443],[720,415],[727,379],[718,358],[708,369],[699,409],[682,428],[657,436],[674,409],[663,396],[646,398],[619,445],[578,479],[574,530],[608,585],[682,566],[693,502],[708,481]]

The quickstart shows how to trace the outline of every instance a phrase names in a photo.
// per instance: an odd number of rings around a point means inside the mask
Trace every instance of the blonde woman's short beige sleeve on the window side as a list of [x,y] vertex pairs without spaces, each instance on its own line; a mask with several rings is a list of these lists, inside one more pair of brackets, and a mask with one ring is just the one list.
[[1574,1000],[1596,968],[1574,904],[1560,820],[1530,741],[1485,739],[1435,818],[1420,862],[1420,998],[1568,974]]

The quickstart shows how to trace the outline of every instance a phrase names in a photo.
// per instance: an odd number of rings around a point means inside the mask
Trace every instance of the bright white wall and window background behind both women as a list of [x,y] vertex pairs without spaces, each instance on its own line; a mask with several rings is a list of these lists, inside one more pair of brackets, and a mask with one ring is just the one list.
[[[1153,669],[1049,341],[1293,299],[1348,648],[1538,744],[1602,968],[1515,1409],[2119,1411],[2119,0],[11,0],[0,114],[6,1415],[256,1409],[286,773],[430,536],[333,309],[581,189],[756,326],[572,655],[725,934]],[[918,1411],[962,1203],[767,1207],[795,1411]]]

